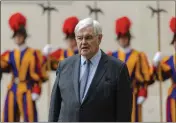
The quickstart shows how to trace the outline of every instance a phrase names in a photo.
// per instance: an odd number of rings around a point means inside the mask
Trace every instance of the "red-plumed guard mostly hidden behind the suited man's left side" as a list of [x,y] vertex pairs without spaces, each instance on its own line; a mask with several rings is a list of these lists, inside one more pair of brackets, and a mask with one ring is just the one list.
[[65,34],[65,42],[68,49],[58,48],[52,51],[51,45],[47,44],[43,48],[43,54],[45,58],[50,58],[51,69],[56,70],[59,61],[64,60],[67,57],[78,54],[77,44],[75,40],[75,27],[78,24],[79,19],[76,16],[68,17],[63,24],[62,31]]

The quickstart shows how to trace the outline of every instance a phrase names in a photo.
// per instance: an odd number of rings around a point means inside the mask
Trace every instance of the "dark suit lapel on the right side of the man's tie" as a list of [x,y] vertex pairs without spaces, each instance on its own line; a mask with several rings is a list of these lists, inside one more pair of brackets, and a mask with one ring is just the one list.
[[101,59],[100,59],[100,62],[98,64],[98,67],[97,67],[97,70],[95,72],[95,75],[93,77],[93,80],[91,82],[91,85],[89,87],[89,90],[84,98],[84,101],[82,104],[84,104],[87,99],[92,96],[92,94],[94,93],[94,91],[96,90],[96,86],[99,84],[101,78],[103,77],[106,69],[107,69],[107,55],[102,51],[102,56],[101,56]]

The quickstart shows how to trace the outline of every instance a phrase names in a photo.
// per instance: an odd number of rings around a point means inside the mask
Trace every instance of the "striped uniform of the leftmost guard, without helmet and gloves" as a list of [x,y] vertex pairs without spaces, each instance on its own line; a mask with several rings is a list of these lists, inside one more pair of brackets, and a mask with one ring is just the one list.
[[8,85],[5,99],[3,122],[37,122],[37,109],[32,93],[41,93],[41,83],[47,77],[42,67],[43,59],[39,50],[15,49],[1,55],[1,69],[9,68],[12,81]]

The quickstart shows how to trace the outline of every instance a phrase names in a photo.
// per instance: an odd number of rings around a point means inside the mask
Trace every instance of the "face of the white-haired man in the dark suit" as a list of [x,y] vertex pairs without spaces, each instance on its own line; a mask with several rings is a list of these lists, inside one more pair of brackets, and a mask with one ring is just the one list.
[[92,27],[81,29],[76,34],[79,53],[90,59],[97,53],[101,39],[102,35],[95,35]]

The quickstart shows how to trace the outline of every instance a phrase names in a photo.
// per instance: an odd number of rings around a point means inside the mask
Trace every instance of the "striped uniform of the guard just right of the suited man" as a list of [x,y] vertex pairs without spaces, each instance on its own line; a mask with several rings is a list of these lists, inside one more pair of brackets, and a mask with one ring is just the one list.
[[[128,53],[121,50],[108,53],[125,62],[133,85],[132,122],[142,122],[142,106],[137,104],[138,96],[147,96],[147,86],[153,82],[152,69],[145,53],[132,49]],[[125,97],[124,97],[125,98]]]

